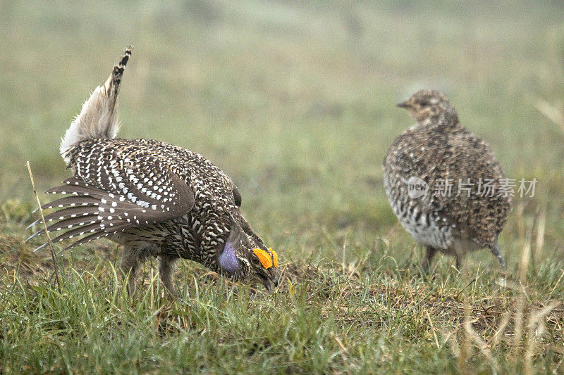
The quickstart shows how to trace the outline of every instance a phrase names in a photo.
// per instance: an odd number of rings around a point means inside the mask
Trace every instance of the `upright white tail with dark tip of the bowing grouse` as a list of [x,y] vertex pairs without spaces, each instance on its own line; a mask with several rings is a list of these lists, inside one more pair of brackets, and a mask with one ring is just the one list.
[[73,144],[89,138],[115,138],[118,134],[119,122],[117,100],[123,70],[131,56],[133,47],[125,49],[123,56],[114,66],[108,80],[94,89],[90,98],[82,105],[80,114],[71,123],[61,141],[61,156],[68,164],[67,151]]

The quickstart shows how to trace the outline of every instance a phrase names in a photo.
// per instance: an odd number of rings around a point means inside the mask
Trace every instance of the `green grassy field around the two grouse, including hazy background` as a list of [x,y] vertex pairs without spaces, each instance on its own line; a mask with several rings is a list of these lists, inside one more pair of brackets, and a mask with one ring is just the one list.
[[[563,373],[564,7],[561,2],[0,0],[0,372]],[[232,177],[288,277],[272,294],[190,262],[162,297],[130,297],[119,248],[32,253],[38,190],[121,51],[121,136],[202,153]],[[537,178],[486,250],[434,273],[399,226],[381,160],[446,92],[508,177]],[[43,202],[45,195],[40,194]]]

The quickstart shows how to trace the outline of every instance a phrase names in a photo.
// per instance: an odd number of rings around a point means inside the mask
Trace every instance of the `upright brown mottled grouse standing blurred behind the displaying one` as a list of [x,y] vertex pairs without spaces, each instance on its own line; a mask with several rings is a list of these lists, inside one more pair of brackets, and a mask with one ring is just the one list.
[[[511,196],[491,148],[460,124],[438,91],[417,91],[398,106],[416,123],[388,149],[384,187],[403,227],[427,248],[422,267],[437,250],[455,255],[460,267],[467,252],[489,248],[505,268],[497,241]],[[410,182],[427,191],[408,191]]]

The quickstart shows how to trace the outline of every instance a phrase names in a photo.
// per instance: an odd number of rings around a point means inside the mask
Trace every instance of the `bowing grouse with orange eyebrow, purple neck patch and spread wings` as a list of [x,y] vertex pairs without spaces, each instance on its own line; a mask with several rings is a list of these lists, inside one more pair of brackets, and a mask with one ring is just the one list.
[[[271,282],[277,282],[276,253],[243,217],[240,193],[226,174],[202,155],[178,146],[115,138],[117,94],[130,55],[126,49],[61,142],[61,155],[73,176],[47,190],[70,196],[42,206],[57,209],[45,217],[47,230],[58,234],[53,243],[75,239],[67,247],[73,248],[108,237],[122,244],[121,269],[130,274],[130,288],[142,261],[152,255],[171,292],[178,258],[200,262],[235,281],[260,282],[270,290]],[[30,238],[40,234],[44,230]],[[265,262],[265,257],[273,261]]]

